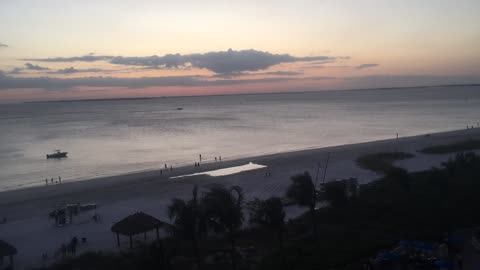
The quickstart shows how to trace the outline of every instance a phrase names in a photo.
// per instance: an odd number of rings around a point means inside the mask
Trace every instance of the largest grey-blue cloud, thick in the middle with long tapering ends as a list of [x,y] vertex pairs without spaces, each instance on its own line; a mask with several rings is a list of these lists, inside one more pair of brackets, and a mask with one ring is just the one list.
[[149,68],[200,68],[217,74],[233,74],[235,72],[259,71],[281,63],[335,61],[333,56],[295,57],[289,54],[272,54],[257,50],[240,50],[196,53],[196,54],[166,54],[164,56],[108,56],[85,55],[78,57],[27,58],[24,61],[37,62],[94,62],[107,61],[111,64],[125,66],[140,66]]

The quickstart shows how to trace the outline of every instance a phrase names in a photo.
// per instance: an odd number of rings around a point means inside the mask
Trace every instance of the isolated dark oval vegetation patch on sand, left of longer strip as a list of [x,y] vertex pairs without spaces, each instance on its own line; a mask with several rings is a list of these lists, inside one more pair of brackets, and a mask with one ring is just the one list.
[[357,165],[363,169],[384,174],[393,168],[394,161],[413,157],[414,155],[404,152],[367,154],[357,158]]

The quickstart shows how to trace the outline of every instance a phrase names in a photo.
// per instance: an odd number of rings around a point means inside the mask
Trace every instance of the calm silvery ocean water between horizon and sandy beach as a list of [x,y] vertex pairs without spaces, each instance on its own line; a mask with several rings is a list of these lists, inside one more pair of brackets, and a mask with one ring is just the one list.
[[479,121],[479,86],[0,105],[0,190]]

